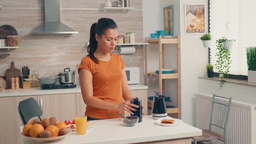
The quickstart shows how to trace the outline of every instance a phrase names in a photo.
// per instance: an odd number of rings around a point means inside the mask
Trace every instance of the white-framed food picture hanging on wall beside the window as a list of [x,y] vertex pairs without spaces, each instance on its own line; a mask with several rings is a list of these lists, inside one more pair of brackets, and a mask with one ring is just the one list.
[[205,4],[185,4],[185,34],[205,33]]

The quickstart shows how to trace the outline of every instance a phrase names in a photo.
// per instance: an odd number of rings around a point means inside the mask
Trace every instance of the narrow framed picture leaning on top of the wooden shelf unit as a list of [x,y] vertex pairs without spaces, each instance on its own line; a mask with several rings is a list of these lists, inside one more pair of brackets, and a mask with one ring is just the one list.
[[173,29],[173,5],[164,7],[164,31],[167,36],[174,35]]

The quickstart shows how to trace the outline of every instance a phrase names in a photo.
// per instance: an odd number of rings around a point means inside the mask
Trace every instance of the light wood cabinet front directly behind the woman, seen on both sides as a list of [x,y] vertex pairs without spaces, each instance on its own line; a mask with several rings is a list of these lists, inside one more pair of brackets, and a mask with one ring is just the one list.
[[[148,106],[148,97],[147,97],[148,90],[147,89],[140,89],[140,90],[131,90],[131,95],[133,97],[141,98],[142,105],[144,105],[144,115],[148,115],[147,106]],[[77,115],[84,115],[86,105],[82,98],[82,93],[76,94],[76,112]],[[130,115],[128,112],[125,111],[125,115]]]

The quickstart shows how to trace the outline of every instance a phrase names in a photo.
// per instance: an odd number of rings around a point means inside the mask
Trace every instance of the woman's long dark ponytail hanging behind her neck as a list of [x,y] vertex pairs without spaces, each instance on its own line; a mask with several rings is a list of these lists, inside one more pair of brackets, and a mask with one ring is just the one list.
[[89,46],[87,48],[88,56],[95,62],[98,63],[98,60],[94,56],[94,52],[96,51],[98,47],[98,42],[95,38],[96,34],[96,25],[97,23],[93,23],[90,30],[90,40],[89,40]]

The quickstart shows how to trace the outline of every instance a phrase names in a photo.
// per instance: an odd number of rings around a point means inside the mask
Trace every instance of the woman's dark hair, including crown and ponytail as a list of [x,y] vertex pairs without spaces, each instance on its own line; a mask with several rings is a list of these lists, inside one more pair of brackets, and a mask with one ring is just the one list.
[[87,48],[88,56],[95,62],[98,63],[98,60],[94,56],[94,52],[98,47],[98,42],[95,38],[95,34],[102,36],[105,33],[106,29],[115,29],[117,25],[114,20],[108,18],[101,18],[98,20],[98,23],[93,23],[90,30],[90,40],[89,46]]

